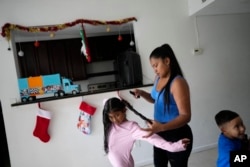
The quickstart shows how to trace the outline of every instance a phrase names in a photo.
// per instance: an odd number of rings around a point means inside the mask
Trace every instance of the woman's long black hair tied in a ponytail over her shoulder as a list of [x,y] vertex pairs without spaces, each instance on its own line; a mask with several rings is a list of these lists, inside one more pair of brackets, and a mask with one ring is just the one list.
[[169,44],[163,44],[162,46],[155,48],[149,56],[149,59],[151,58],[161,58],[162,60],[164,60],[165,58],[170,59],[170,64],[169,64],[170,65],[170,77],[169,77],[168,82],[164,86],[164,89],[162,89],[160,92],[162,93],[162,91],[165,90],[164,101],[165,101],[165,104],[168,104],[169,106],[170,83],[177,75],[183,77],[182,70],[175,57],[173,49],[171,48]]

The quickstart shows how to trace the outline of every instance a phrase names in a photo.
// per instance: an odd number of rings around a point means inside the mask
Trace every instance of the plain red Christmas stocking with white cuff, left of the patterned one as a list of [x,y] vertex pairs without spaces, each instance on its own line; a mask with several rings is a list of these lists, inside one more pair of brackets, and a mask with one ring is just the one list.
[[33,131],[33,135],[38,137],[43,142],[48,142],[50,135],[48,134],[49,122],[51,119],[51,114],[49,111],[39,108],[36,116],[36,126]]

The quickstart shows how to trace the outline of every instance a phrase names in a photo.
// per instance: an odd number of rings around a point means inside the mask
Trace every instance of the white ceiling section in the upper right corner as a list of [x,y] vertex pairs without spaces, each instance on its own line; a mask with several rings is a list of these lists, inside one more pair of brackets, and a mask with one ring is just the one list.
[[196,15],[250,13],[250,0],[214,0]]

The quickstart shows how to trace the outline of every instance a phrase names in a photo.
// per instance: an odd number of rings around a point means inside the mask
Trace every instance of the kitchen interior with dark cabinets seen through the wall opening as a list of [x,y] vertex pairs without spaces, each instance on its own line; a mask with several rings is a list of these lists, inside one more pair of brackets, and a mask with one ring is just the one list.
[[60,73],[80,84],[83,92],[117,87],[117,56],[127,50],[136,52],[133,24],[86,24],[84,29],[91,62],[81,53],[79,25],[56,32],[14,30],[18,77]]

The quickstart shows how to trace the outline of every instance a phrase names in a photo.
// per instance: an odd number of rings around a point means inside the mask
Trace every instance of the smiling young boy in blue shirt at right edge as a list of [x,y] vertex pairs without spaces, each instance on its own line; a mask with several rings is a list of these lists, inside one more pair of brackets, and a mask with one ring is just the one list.
[[221,130],[218,139],[217,167],[229,167],[230,151],[248,150],[246,128],[240,116],[230,110],[217,113],[215,121]]

